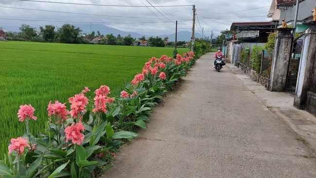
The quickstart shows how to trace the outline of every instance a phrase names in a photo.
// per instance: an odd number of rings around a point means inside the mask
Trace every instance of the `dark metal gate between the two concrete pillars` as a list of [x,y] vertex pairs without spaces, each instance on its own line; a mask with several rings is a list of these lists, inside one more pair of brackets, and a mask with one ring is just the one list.
[[303,43],[303,40],[299,39],[298,37],[298,39],[293,41],[293,44],[292,44],[288,75],[287,75],[286,84],[285,84],[286,85],[285,90],[292,94],[295,94],[296,82],[298,80],[298,67],[299,67],[299,62],[300,62],[300,55],[302,52],[302,43]]

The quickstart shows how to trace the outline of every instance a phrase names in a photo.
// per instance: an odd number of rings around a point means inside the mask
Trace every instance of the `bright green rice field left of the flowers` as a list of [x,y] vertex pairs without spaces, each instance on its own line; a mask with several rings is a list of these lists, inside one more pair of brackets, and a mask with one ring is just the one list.
[[[111,91],[124,87],[141,72],[151,57],[172,56],[173,48],[109,46],[0,41],[0,160],[8,151],[11,138],[23,135],[25,123],[18,122],[20,105],[35,107],[37,120],[30,131],[37,136],[48,120],[49,101],[68,98],[101,85]],[[179,54],[188,48],[178,48]]]

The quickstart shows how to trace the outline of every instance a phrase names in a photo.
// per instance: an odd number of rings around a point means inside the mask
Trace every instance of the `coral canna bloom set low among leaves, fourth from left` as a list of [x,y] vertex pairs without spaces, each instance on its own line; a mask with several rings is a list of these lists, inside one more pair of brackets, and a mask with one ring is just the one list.
[[72,123],[70,126],[65,128],[66,142],[71,140],[73,144],[80,145],[85,139],[85,135],[80,131],[85,131],[85,129],[86,128],[82,125],[81,121],[79,121],[76,125]]

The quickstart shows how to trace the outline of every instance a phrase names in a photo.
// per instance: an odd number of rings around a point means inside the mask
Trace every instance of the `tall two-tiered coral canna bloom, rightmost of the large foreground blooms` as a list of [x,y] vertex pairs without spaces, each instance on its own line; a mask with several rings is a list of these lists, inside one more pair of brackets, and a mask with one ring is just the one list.
[[114,98],[110,98],[107,95],[110,94],[110,88],[106,85],[102,85],[100,89],[97,89],[94,91],[96,96],[94,99],[94,106],[95,108],[92,109],[92,112],[96,113],[98,112],[107,112],[106,110],[106,104],[107,103],[113,103]]

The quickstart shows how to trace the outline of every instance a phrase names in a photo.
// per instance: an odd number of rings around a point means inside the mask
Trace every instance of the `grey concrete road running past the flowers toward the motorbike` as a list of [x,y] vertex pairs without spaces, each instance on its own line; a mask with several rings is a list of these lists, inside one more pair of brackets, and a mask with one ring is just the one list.
[[203,55],[103,178],[315,178],[316,159],[227,66]]

